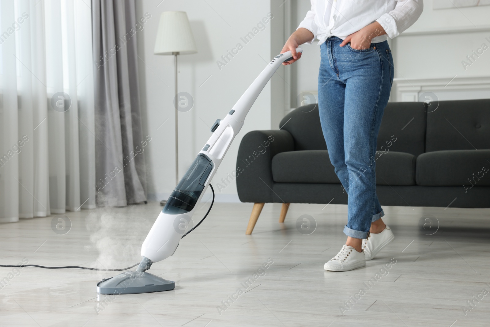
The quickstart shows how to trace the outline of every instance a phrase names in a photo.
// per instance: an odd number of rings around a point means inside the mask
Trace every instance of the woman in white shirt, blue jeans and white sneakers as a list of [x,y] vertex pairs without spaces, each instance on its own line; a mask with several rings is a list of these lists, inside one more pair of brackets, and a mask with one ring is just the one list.
[[[366,266],[394,235],[376,196],[376,143],[393,82],[387,35],[415,23],[422,0],[311,0],[311,10],[281,53],[319,39],[319,115],[330,161],[348,194],[347,242],[325,270]],[[389,141],[389,140],[386,140]]]

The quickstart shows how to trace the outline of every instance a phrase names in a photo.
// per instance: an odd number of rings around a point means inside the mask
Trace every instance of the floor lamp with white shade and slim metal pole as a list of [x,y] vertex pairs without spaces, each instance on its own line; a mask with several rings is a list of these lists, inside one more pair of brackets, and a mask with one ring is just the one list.
[[[175,96],[175,185],[179,182],[178,154],[178,99],[177,99],[177,57],[179,54],[196,53],[196,42],[185,11],[164,11],[160,16],[156,33],[154,54],[172,54],[174,57]],[[161,201],[161,204],[164,204]]]

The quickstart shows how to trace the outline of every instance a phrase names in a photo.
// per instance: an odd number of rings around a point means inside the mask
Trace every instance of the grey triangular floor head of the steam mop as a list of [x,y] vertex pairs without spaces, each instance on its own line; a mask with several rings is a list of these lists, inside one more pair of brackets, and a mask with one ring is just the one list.
[[174,288],[174,281],[142,271],[124,272],[115,277],[104,278],[97,283],[99,294],[151,293],[170,291]]

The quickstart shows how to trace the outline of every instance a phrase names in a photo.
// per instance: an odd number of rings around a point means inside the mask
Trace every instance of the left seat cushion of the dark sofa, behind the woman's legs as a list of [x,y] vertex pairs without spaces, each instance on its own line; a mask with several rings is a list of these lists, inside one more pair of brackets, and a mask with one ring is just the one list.
[[[410,153],[377,152],[376,184],[415,185],[416,157]],[[340,184],[328,151],[281,152],[272,158],[272,177],[278,183]]]

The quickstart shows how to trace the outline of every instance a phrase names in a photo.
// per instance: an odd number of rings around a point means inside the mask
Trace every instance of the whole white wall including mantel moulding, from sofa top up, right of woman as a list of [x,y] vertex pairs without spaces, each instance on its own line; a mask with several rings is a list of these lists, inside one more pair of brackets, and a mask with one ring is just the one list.
[[[434,10],[424,1],[418,21],[392,40],[392,101],[424,100],[425,92],[435,100],[490,98],[489,17],[490,6]],[[489,49],[468,61],[483,44]]]

